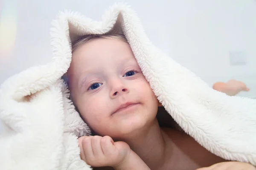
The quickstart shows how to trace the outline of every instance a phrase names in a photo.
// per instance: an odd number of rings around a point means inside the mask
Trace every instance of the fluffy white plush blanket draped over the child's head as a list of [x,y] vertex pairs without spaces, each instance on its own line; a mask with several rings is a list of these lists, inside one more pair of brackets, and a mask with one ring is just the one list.
[[115,4],[94,21],[61,12],[53,21],[53,59],[7,79],[0,88],[1,170],[89,170],[79,156],[79,136],[90,135],[61,77],[71,44],[85,34],[123,32],[152,90],[177,124],[224,159],[256,165],[256,100],[227,96],[155,47],[136,13]]

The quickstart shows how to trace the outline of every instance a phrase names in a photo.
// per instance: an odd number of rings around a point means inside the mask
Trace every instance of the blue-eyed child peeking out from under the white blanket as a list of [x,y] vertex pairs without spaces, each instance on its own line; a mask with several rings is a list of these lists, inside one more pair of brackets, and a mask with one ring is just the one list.
[[116,170],[255,170],[215,156],[181,131],[159,126],[161,104],[123,35],[83,36],[72,53],[67,71],[71,98],[97,134],[79,138],[87,164]]

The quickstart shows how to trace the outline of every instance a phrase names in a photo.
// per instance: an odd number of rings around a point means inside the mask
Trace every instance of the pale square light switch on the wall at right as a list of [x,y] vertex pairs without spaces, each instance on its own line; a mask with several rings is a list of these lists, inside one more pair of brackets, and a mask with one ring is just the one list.
[[244,51],[230,51],[230,65],[246,65],[246,53]]

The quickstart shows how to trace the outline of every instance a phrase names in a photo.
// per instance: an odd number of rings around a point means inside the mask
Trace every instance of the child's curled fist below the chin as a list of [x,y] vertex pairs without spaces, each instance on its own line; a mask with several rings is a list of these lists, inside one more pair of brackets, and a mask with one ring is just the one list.
[[127,143],[114,142],[109,136],[82,136],[78,140],[81,159],[92,167],[118,167],[131,152]]

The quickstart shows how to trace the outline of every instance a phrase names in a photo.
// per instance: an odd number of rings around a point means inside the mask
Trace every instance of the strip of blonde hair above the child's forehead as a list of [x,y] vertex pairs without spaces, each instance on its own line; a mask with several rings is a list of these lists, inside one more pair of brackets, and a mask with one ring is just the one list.
[[99,38],[105,38],[105,39],[112,39],[112,40],[122,40],[124,42],[127,42],[125,35],[123,34],[89,34],[81,36],[76,42],[72,45],[72,53],[79,48],[81,45],[85,44],[86,42],[89,42],[90,40],[99,39]]

